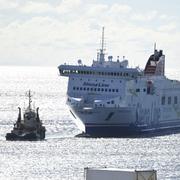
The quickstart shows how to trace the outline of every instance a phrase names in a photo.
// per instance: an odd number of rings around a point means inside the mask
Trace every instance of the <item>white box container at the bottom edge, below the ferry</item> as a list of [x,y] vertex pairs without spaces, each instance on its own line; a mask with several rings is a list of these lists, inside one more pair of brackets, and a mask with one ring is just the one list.
[[85,180],[157,180],[155,170],[122,170],[85,168]]

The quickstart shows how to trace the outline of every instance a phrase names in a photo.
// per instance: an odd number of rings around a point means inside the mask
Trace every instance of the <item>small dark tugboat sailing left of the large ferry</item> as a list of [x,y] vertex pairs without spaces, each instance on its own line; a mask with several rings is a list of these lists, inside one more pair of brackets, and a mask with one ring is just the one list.
[[26,108],[23,119],[21,118],[21,108],[19,109],[19,115],[14,128],[11,133],[6,134],[6,140],[43,140],[45,138],[45,127],[42,126],[42,122],[39,118],[39,107],[36,110],[32,109],[31,92],[28,92],[29,106]]

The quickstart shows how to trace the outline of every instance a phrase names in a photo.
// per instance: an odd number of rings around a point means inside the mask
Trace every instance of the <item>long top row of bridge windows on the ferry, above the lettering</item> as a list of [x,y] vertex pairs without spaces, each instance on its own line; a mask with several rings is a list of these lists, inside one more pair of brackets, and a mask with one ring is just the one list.
[[129,74],[127,72],[95,72],[95,71],[78,71],[78,70],[63,70],[62,74],[85,74],[85,75],[105,75],[105,76],[131,76],[134,77],[133,74]]

